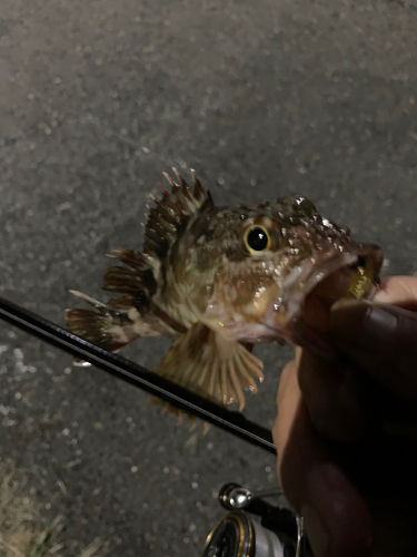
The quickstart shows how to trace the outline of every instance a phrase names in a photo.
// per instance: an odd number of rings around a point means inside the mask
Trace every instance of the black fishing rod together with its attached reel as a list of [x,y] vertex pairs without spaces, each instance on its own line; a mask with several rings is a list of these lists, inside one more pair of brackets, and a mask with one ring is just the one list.
[[[156,395],[169,404],[201,418],[217,428],[276,455],[271,432],[241,413],[221,408],[150,370],[91,344],[18,304],[0,297],[0,319],[111,375]],[[220,489],[219,501],[230,510],[210,531],[203,557],[312,557],[302,518],[290,509],[270,505],[266,497],[280,495],[277,488],[252,492],[237,483]]]

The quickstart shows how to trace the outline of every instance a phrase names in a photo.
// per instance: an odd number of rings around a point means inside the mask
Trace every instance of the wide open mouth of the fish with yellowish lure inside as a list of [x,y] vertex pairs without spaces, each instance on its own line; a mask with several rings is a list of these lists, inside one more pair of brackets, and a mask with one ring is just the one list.
[[371,300],[383,261],[383,252],[375,244],[356,244],[305,260],[284,282],[275,315],[280,334],[316,352],[334,352],[328,335],[331,305],[346,297]]

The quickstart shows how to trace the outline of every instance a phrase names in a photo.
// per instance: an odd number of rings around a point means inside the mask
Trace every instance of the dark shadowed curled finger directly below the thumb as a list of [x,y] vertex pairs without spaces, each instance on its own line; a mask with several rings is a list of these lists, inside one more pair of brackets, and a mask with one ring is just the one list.
[[346,360],[330,362],[305,350],[297,373],[311,423],[324,438],[347,444],[377,428],[389,437],[417,440],[415,401],[364,378]]

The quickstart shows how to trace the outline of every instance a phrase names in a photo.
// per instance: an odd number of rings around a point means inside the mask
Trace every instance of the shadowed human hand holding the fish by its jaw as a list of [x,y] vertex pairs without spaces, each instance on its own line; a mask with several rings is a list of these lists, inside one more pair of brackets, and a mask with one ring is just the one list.
[[330,335],[332,361],[298,349],[282,371],[284,491],[316,557],[416,555],[417,278],[335,304]]

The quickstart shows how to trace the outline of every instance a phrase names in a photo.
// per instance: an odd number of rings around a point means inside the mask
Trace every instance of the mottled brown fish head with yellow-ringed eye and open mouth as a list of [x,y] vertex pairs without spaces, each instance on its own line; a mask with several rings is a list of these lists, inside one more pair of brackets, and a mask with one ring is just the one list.
[[307,198],[240,206],[235,214],[207,309],[225,334],[326,346],[330,306],[376,292],[381,250],[355,242]]

